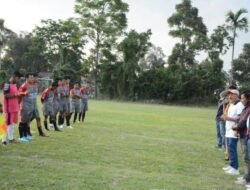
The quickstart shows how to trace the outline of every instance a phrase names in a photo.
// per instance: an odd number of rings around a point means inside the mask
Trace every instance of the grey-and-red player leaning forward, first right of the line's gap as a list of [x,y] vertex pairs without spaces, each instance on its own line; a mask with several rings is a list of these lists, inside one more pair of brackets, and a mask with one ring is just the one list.
[[55,91],[57,88],[57,81],[53,82],[48,88],[46,88],[41,95],[41,102],[43,104],[43,115],[44,115],[44,127],[49,131],[48,128],[48,117],[50,123],[53,124],[55,131],[60,131],[57,128],[55,113],[56,113],[56,102],[55,102]]

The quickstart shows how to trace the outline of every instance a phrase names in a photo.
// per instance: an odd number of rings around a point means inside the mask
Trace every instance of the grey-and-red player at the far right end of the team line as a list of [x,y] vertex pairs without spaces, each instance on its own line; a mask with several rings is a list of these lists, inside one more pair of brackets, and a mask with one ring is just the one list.
[[82,105],[81,105],[81,113],[79,115],[79,121],[82,122],[84,122],[86,112],[88,111],[89,95],[90,95],[90,85],[88,84],[87,86],[81,88]]

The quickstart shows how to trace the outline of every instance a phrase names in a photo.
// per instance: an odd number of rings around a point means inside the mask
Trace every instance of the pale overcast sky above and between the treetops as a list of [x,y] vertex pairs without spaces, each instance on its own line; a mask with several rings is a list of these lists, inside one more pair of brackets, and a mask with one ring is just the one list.
[[[167,24],[175,12],[175,5],[181,0],[124,0],[129,4],[128,28],[138,32],[152,30],[151,42],[163,49],[166,56],[171,54],[177,42],[168,35]],[[0,18],[5,20],[5,26],[15,32],[31,32],[42,19],[66,19],[74,14],[75,0],[0,0]],[[250,0],[192,0],[192,5],[199,9],[209,33],[218,25],[225,23],[225,15],[229,10],[236,12],[245,8],[245,15],[250,21]],[[235,57],[241,51],[244,43],[250,43],[250,32],[238,32]],[[202,57],[202,56],[201,56]],[[231,49],[223,56],[224,69],[230,69]]]

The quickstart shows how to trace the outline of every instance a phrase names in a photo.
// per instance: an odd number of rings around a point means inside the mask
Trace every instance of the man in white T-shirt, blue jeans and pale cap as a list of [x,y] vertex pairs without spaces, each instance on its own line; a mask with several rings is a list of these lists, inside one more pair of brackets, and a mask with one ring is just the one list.
[[238,135],[235,134],[233,127],[237,124],[244,105],[239,100],[239,91],[229,89],[225,92],[229,101],[229,108],[226,115],[222,118],[226,121],[226,142],[229,151],[230,165],[224,167],[225,173],[230,175],[239,175],[239,162],[237,153]]

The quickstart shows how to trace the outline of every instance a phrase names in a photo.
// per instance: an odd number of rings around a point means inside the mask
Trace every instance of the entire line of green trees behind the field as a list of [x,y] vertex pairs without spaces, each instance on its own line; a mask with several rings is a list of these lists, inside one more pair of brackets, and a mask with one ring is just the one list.
[[[14,70],[67,74],[73,82],[92,81],[96,97],[163,102],[211,100],[231,82],[250,87],[250,43],[234,58],[238,32],[248,32],[246,9],[229,11],[225,24],[209,33],[198,8],[182,0],[166,21],[178,39],[166,57],[151,43],[150,29],[126,30],[129,5],[122,0],[76,0],[74,8],[78,17],[42,20],[31,33],[16,34],[1,19],[0,80]],[[221,57],[230,48],[227,73]]]

